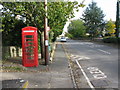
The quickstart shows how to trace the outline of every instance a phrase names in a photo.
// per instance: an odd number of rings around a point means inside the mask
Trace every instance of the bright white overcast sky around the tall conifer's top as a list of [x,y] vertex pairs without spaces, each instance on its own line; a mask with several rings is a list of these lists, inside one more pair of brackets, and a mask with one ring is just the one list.
[[[69,0],[69,1],[78,1],[81,2],[82,0]],[[75,13],[74,19],[79,19],[82,16],[83,11],[88,7],[88,4],[91,3],[92,0],[85,0],[84,4],[86,5],[84,8],[79,8],[79,12]],[[103,10],[103,13],[106,15],[104,20],[113,21],[116,20],[116,3],[117,0],[93,0],[97,3],[97,6]]]

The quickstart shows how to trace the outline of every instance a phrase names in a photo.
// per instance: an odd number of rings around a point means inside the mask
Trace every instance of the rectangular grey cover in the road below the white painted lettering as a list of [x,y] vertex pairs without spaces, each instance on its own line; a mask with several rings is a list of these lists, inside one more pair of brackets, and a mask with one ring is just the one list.
[[108,83],[106,80],[93,80],[91,81],[94,87],[104,87],[108,86]]

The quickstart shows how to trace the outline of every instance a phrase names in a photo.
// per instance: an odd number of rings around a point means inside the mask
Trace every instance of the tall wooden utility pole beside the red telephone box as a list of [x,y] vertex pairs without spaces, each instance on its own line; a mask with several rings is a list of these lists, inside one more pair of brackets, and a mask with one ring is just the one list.
[[47,19],[47,0],[45,0],[45,24],[44,24],[44,45],[45,45],[45,65],[49,64],[49,50],[48,50],[48,19]]

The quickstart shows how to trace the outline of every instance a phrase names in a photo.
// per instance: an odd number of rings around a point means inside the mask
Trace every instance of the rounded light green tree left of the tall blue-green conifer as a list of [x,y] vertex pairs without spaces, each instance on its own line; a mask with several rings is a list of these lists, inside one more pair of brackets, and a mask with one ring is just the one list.
[[80,38],[85,36],[85,26],[82,20],[73,20],[68,26],[68,33],[72,35],[73,38]]

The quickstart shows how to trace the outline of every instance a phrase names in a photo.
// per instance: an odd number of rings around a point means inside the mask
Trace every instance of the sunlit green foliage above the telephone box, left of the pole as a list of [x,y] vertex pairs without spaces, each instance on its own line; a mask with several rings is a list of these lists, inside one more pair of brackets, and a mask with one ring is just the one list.
[[43,2],[3,2],[2,5],[3,17],[6,18],[6,15],[9,15],[10,18],[13,16],[15,19],[20,15],[25,18],[26,26],[35,26],[41,30],[40,25],[43,24],[45,15]]

